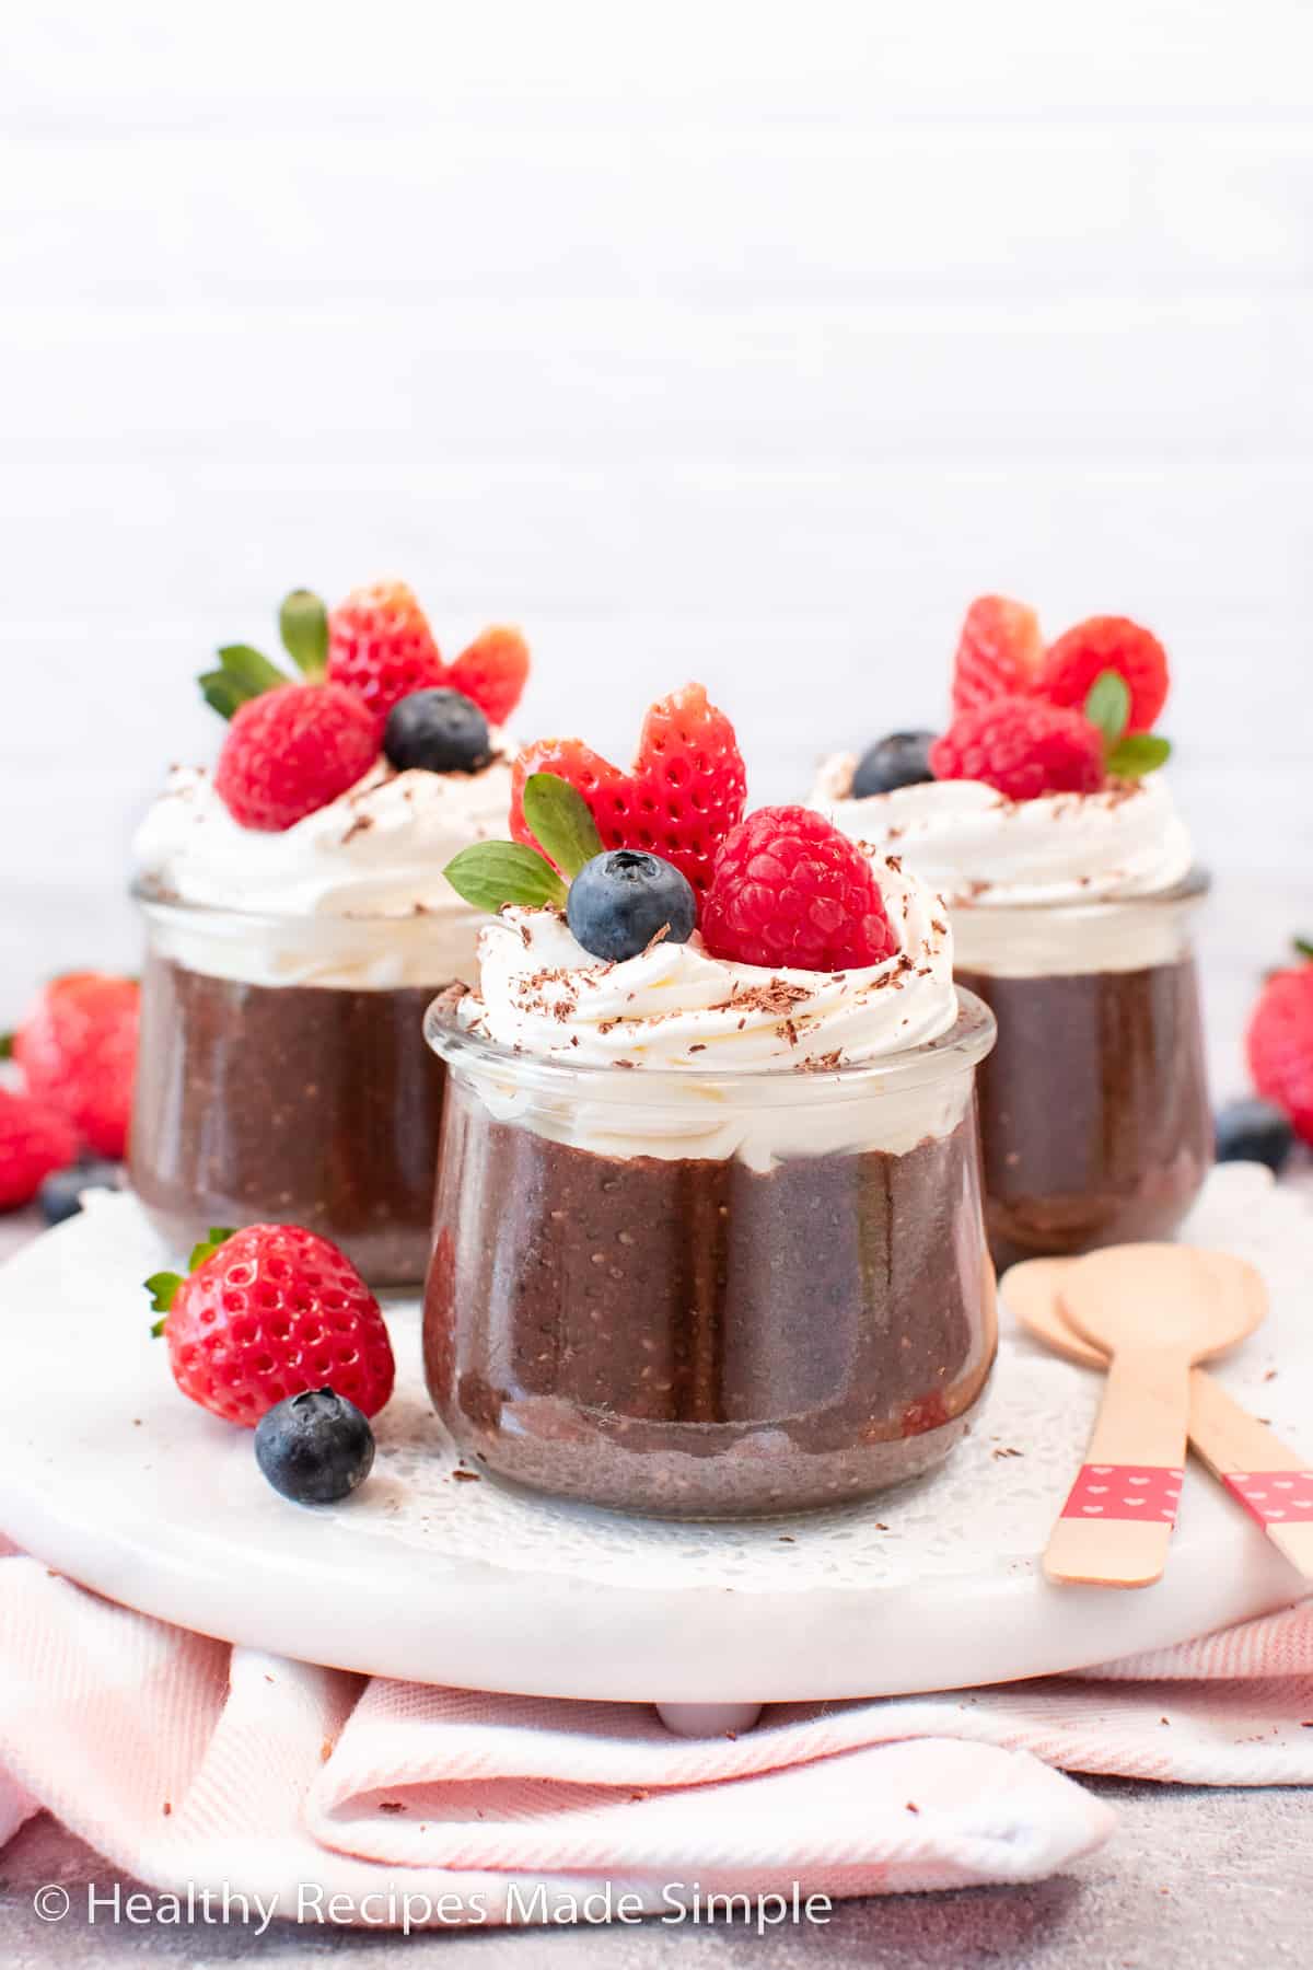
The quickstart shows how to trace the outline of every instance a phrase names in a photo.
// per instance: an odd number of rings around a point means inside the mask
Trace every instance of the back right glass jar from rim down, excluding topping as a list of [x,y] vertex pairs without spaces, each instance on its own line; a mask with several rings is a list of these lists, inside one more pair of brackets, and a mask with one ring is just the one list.
[[959,906],[986,1001],[984,1212],[1000,1271],[1167,1237],[1213,1164],[1191,924],[1209,879],[1116,902]]

